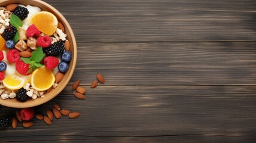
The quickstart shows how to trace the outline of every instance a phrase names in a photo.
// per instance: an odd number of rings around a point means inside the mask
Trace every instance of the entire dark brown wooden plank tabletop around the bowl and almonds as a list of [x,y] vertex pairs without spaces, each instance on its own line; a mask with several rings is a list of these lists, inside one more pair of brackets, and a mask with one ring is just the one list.
[[[0,142],[256,142],[256,1],[45,2],[70,22],[78,61],[36,108],[57,102],[81,117],[19,123]],[[97,73],[106,83],[90,89]],[[72,95],[77,79],[87,100]]]

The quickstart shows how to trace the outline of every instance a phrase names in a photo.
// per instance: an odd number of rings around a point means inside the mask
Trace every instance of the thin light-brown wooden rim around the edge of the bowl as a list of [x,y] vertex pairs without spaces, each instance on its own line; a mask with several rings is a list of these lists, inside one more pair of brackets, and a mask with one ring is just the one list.
[[[54,13],[56,13],[56,16],[59,17],[59,20],[62,21],[62,23],[66,26],[66,29],[68,29],[69,34],[71,35],[71,37],[69,37],[69,41],[72,41],[72,46],[73,46],[73,58],[72,61],[69,63],[69,65],[72,65],[71,69],[69,69],[69,76],[67,76],[67,78],[63,81],[63,85],[62,87],[57,87],[58,90],[54,90],[54,95],[47,95],[46,97],[40,97],[40,101],[37,102],[29,102],[29,104],[26,104],[26,102],[11,102],[12,104],[10,104],[10,102],[6,102],[5,100],[2,100],[2,98],[0,99],[0,105],[4,105],[7,107],[13,107],[13,108],[28,108],[28,107],[35,107],[37,105],[41,105],[44,104],[45,102],[48,102],[50,100],[52,100],[54,97],[56,97],[57,95],[60,94],[60,92],[63,91],[63,89],[65,89],[66,85],[68,85],[69,80],[71,80],[72,75],[74,74],[75,71],[75,66],[77,64],[77,42],[75,40],[75,35],[74,32],[71,28],[71,26],[69,25],[68,21],[66,20],[66,18],[53,6],[51,6],[50,4],[47,4],[47,2],[41,1],[41,0],[28,0],[28,1],[33,1],[33,2],[38,2],[41,5],[44,5],[45,7],[47,7],[48,9],[50,9],[51,11],[54,11]],[[4,3],[4,2],[10,2],[10,0],[2,0],[0,2],[0,4]],[[19,4],[19,2],[17,2]],[[10,4],[12,4],[10,2]],[[2,7],[2,6],[1,6]],[[55,14],[54,14],[55,15]],[[70,67],[70,66],[69,66]],[[50,94],[51,92],[49,92]],[[9,100],[13,100],[13,99],[9,99]],[[39,100],[39,99],[36,99]],[[33,100],[33,101],[36,101]]]

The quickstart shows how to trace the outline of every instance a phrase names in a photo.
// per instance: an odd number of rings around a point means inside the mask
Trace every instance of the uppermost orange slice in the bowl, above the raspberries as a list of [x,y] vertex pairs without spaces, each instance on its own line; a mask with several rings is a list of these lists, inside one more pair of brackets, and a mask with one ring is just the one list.
[[39,31],[46,35],[53,35],[57,29],[58,20],[55,15],[47,11],[40,11],[29,18],[29,22],[34,24]]

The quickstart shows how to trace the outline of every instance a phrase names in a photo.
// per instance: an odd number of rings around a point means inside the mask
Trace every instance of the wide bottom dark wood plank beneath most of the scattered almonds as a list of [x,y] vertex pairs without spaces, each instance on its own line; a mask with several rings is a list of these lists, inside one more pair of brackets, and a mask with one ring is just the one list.
[[[54,119],[52,126],[33,119],[35,125],[29,129],[21,125],[16,130],[0,129],[5,130],[0,141],[251,142],[255,138],[255,86],[86,88],[87,100],[74,98],[69,84],[62,94],[37,107],[45,113],[59,102],[61,108],[80,111],[78,119]],[[0,116],[12,112],[13,108],[2,107]]]

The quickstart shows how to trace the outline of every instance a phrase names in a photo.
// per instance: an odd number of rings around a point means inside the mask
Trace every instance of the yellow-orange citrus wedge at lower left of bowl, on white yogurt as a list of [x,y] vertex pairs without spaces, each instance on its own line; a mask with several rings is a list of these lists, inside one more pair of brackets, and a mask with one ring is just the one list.
[[2,80],[2,83],[4,83],[6,88],[15,90],[25,86],[26,83],[28,83],[28,80],[16,75],[11,75]]

